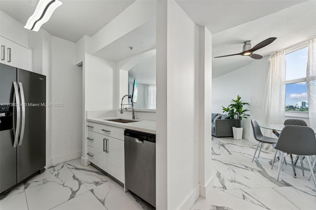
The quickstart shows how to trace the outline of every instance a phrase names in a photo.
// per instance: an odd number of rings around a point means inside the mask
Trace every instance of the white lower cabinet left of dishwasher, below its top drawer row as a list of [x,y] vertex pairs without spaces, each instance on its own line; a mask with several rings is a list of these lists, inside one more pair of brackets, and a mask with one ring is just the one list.
[[[124,136],[124,129],[115,129]],[[124,140],[88,130],[86,142],[88,161],[124,183]]]

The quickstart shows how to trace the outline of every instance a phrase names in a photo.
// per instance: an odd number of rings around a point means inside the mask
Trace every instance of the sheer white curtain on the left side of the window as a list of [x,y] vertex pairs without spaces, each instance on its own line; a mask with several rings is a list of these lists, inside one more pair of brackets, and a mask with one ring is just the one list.
[[[277,52],[270,56],[270,68],[266,81],[264,111],[266,124],[283,124],[285,112],[285,53]],[[265,129],[266,130],[266,129]],[[271,131],[265,135],[273,136]]]

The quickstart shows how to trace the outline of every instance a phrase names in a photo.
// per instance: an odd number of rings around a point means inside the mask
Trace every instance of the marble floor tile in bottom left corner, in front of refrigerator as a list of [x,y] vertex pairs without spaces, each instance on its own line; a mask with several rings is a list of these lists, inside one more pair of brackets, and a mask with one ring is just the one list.
[[0,199],[0,210],[28,210],[23,184]]

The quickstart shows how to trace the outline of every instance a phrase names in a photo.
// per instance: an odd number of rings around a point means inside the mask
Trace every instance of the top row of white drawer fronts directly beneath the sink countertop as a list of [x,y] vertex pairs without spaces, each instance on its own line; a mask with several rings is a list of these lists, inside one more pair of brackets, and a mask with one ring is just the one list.
[[99,123],[87,122],[88,131],[124,140],[124,129]]

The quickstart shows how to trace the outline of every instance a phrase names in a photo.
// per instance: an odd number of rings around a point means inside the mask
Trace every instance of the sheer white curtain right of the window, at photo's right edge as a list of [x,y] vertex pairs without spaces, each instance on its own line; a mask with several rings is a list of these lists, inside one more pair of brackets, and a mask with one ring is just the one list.
[[306,82],[310,125],[316,131],[316,38],[308,44]]

